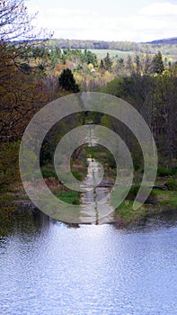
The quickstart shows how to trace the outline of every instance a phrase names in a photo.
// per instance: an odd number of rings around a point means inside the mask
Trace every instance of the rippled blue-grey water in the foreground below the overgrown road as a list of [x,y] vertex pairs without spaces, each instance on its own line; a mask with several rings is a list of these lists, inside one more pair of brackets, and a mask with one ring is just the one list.
[[177,313],[175,214],[119,230],[23,211],[2,230],[2,315]]

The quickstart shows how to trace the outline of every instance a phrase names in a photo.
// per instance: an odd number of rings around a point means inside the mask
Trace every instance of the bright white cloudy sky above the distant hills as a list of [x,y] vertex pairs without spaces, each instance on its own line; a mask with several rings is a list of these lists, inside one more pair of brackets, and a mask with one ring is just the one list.
[[27,0],[53,38],[150,41],[177,37],[177,0]]

